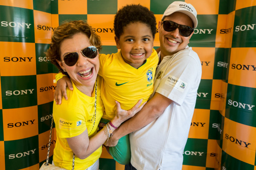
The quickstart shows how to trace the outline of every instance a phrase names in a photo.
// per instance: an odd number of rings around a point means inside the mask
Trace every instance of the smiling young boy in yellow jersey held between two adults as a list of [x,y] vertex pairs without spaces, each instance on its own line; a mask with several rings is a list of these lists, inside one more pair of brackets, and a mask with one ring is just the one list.
[[[127,5],[119,9],[114,31],[120,51],[99,56],[99,75],[104,79],[101,92],[105,107],[103,123],[115,116],[116,101],[123,110],[131,109],[140,99],[142,103],[148,101],[154,90],[154,74],[159,61],[157,52],[152,49],[156,19],[148,8]],[[120,164],[128,164],[131,159],[129,135],[119,139],[115,147],[109,147],[109,153]]]

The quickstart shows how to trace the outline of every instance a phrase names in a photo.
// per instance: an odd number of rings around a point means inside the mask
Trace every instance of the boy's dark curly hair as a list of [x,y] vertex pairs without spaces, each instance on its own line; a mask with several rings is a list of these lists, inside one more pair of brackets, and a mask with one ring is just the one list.
[[145,23],[151,29],[153,38],[156,34],[156,18],[154,13],[140,4],[127,5],[119,9],[115,15],[114,31],[117,38],[123,34],[123,29],[130,23]]

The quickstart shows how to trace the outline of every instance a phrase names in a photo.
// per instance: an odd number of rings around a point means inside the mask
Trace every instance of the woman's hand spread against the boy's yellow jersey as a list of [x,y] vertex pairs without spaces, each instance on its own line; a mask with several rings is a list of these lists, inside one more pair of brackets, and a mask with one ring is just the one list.
[[116,101],[116,116],[111,120],[111,122],[113,123],[113,125],[115,125],[116,127],[120,126],[122,122],[125,122],[125,120],[130,119],[131,117],[133,117],[136,113],[138,113],[143,106],[146,104],[146,102],[144,102],[141,106],[142,99],[140,99],[136,105],[134,105],[133,108],[131,108],[128,111],[125,111],[121,108],[120,103]]

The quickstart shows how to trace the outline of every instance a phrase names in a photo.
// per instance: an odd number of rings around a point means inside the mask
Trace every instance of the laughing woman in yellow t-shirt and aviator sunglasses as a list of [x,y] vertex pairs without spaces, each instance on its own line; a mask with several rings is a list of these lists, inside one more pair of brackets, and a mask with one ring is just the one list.
[[101,78],[97,76],[99,49],[100,38],[91,27],[83,21],[71,21],[55,29],[46,52],[47,58],[70,77],[74,88],[67,89],[69,100],[53,104],[57,132],[53,162],[58,167],[72,169],[74,153],[76,170],[98,170],[102,144],[112,136],[114,127],[142,108],[138,108],[140,101],[131,110],[116,113],[111,123],[97,133],[104,111]]

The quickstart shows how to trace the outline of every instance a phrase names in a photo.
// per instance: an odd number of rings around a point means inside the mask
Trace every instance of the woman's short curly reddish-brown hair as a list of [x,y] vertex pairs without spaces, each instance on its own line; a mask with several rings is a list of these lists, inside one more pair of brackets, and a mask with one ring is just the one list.
[[90,44],[96,46],[99,50],[102,49],[102,43],[100,37],[92,30],[91,26],[87,22],[82,20],[65,22],[58,26],[52,34],[52,41],[49,49],[45,52],[47,59],[56,65],[61,73],[66,74],[57,60],[61,61],[61,42],[65,39],[72,38],[75,34],[83,33],[89,38]]

